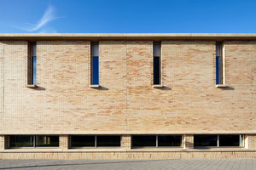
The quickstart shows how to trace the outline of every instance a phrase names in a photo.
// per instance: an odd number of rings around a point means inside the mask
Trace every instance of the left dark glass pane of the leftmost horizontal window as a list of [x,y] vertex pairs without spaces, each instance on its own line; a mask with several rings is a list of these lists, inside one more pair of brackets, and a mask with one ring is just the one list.
[[33,136],[9,136],[9,147],[33,147]]

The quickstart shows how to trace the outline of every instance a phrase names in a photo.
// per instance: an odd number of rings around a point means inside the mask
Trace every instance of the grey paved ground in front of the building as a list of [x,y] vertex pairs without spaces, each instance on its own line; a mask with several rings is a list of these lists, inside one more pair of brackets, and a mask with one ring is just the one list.
[[172,160],[0,160],[0,169],[90,169],[90,170],[256,170],[256,159],[172,159]]

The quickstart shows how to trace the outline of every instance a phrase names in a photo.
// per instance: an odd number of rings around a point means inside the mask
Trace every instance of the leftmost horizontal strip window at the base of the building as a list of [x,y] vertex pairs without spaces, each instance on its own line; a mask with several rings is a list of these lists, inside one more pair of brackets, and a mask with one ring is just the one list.
[[9,148],[19,147],[59,147],[59,136],[32,136],[11,135],[9,136]]

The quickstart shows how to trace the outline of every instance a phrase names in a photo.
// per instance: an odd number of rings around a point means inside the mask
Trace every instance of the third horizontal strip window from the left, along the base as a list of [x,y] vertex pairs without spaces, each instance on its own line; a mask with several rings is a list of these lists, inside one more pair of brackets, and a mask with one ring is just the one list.
[[182,135],[134,135],[132,138],[132,147],[181,147]]

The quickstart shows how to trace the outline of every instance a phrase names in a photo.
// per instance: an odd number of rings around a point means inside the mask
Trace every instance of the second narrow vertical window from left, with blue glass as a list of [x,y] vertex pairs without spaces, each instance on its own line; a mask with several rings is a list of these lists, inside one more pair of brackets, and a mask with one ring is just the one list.
[[91,46],[91,84],[99,85],[99,43],[92,43]]

